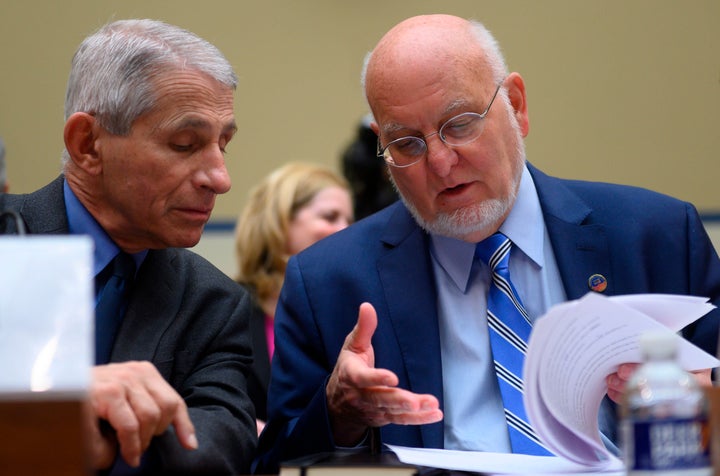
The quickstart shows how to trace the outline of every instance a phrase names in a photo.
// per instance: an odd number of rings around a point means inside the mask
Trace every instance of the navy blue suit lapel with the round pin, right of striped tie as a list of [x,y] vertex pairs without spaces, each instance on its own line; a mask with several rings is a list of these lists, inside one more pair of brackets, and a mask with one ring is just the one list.
[[614,279],[605,227],[589,223],[593,212],[562,180],[549,177],[528,164],[540,198],[558,269],[568,299],[588,291],[589,279],[601,275],[607,280],[607,295],[613,294]]

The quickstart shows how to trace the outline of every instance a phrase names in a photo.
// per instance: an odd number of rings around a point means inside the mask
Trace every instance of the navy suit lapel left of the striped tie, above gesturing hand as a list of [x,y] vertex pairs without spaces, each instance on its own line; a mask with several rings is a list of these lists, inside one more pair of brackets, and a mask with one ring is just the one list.
[[[381,238],[390,251],[378,260],[409,389],[438,397],[443,407],[437,296],[427,235],[399,206]],[[401,377],[402,378],[402,377]],[[421,426],[424,445],[442,448],[442,422]]]

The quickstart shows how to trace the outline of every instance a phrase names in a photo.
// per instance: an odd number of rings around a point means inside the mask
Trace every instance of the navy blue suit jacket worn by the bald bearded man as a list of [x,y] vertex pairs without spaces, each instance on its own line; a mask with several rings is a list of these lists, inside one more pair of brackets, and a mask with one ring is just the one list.
[[[720,260],[695,208],[634,187],[549,177],[528,165],[569,299],[589,291],[588,277],[607,278],[606,295],[673,293],[720,304]],[[292,258],[275,316],[277,346],[269,390],[269,423],[255,471],[334,449],[325,383],[358,306],[378,313],[376,367],[400,387],[430,393],[443,406],[437,297],[428,235],[402,203],[336,233]],[[715,354],[715,310],[684,330]],[[387,425],[385,443],[443,447],[443,423]]]

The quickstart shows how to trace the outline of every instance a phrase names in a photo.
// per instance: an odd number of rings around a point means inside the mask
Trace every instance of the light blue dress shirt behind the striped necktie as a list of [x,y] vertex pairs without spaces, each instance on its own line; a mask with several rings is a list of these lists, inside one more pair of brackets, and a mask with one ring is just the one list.
[[[535,184],[524,169],[500,231],[512,240],[510,277],[531,319],[566,300]],[[431,236],[438,292],[445,448],[511,452],[486,318],[490,270],[475,243]]]

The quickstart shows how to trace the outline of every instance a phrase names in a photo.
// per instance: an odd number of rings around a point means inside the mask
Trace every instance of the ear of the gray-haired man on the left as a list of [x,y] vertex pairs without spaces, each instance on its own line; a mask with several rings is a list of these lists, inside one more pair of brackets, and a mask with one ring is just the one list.
[[76,166],[91,175],[102,171],[102,161],[96,150],[99,126],[95,116],[76,112],[65,121],[65,148]]

